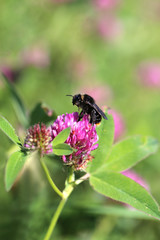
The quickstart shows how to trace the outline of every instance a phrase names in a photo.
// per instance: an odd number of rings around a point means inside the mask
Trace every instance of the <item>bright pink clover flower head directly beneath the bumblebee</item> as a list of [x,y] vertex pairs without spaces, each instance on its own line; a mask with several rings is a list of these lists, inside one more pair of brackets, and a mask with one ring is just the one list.
[[92,160],[91,151],[98,147],[98,144],[95,144],[98,141],[96,125],[92,126],[89,123],[88,115],[84,115],[83,119],[78,121],[77,112],[62,114],[51,125],[52,139],[68,127],[71,127],[71,131],[65,143],[76,151],[68,156],[63,155],[62,160],[75,170],[85,170],[88,161]]

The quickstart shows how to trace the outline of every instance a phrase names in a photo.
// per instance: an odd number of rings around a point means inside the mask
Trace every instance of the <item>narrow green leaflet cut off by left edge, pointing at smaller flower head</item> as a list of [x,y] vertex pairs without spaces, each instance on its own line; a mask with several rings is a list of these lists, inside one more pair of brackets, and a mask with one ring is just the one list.
[[12,125],[5,119],[4,117],[0,116],[0,129],[16,144],[21,145],[21,142],[18,136],[15,133],[14,128]]

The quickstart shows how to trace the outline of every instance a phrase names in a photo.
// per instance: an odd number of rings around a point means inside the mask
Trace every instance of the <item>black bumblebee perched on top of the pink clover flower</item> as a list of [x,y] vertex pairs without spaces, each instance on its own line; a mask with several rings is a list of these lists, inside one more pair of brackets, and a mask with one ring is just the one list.
[[87,95],[87,94],[76,94],[74,96],[67,95],[73,97],[72,103],[73,105],[76,105],[77,107],[81,108],[82,111],[79,114],[78,121],[80,121],[85,114],[88,114],[90,116],[90,123],[92,125],[98,124],[101,122],[102,117],[107,120],[106,115],[104,112],[97,106],[95,103],[95,100]]

